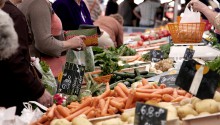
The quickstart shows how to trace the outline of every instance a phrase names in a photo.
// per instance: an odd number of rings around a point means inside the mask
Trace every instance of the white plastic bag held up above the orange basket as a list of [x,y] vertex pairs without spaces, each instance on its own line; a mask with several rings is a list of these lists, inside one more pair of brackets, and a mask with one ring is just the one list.
[[192,8],[189,9],[187,4],[184,13],[182,14],[180,23],[200,23],[200,22],[201,22],[201,13],[194,12]]

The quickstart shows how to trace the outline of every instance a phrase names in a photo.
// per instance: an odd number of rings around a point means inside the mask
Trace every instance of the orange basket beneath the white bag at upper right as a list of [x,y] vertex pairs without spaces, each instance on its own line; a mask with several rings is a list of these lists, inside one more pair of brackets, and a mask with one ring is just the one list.
[[205,31],[205,22],[200,23],[168,23],[173,43],[199,43]]

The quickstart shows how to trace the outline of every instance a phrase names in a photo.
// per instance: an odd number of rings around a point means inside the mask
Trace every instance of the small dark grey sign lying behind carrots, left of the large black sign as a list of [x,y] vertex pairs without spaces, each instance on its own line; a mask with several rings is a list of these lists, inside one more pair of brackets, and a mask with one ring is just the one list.
[[177,74],[161,76],[158,84],[160,85],[161,83],[164,83],[168,87],[176,88],[178,87],[175,84],[176,77],[177,77]]

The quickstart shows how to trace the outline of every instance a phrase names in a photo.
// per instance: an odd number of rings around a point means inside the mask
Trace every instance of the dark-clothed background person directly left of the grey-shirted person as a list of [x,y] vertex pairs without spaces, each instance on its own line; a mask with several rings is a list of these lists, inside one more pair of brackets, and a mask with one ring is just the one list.
[[120,3],[118,13],[124,19],[124,26],[136,26],[137,18],[133,13],[136,6],[134,0],[124,0]]

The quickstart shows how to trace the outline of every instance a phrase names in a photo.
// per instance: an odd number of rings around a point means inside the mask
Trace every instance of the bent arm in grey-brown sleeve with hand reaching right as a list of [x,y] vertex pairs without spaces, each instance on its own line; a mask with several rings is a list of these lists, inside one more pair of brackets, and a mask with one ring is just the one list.
[[34,34],[35,47],[42,53],[59,57],[70,48],[83,47],[82,36],[67,41],[55,39],[51,34],[51,12],[45,0],[37,0],[30,7],[29,19]]

